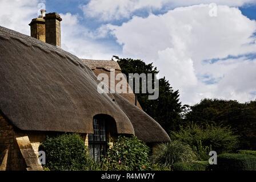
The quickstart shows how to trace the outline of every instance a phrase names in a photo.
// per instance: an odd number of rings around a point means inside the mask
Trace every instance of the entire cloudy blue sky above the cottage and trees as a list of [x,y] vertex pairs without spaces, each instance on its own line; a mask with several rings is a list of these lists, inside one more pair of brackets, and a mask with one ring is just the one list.
[[184,104],[256,99],[256,0],[0,0],[0,26],[30,35],[42,2],[80,58],[153,62]]

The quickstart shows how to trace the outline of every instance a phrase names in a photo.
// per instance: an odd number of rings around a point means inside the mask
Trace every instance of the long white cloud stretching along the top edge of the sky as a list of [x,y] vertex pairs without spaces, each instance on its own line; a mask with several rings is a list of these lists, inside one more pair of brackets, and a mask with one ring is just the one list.
[[255,0],[91,0],[82,6],[86,16],[99,18],[103,21],[130,18],[135,11],[148,12],[161,9],[171,9],[180,6],[198,5],[201,3],[217,3],[218,5],[242,6],[246,3],[255,3]]

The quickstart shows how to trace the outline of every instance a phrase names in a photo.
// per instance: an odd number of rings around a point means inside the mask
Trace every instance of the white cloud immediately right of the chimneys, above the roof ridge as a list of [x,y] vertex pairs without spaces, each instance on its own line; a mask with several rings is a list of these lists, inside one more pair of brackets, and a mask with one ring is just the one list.
[[[78,15],[61,14],[62,48],[83,59],[111,59],[114,50],[104,42],[97,42],[95,37],[102,37],[101,32],[94,34],[80,24]],[[103,33],[102,33],[103,34]]]

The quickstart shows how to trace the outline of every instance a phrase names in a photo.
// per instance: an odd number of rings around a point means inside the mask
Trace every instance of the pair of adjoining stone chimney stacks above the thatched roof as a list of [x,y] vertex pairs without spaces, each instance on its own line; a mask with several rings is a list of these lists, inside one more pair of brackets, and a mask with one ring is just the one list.
[[46,10],[41,10],[38,18],[31,20],[31,36],[42,42],[61,47],[61,16],[57,13],[45,14]]

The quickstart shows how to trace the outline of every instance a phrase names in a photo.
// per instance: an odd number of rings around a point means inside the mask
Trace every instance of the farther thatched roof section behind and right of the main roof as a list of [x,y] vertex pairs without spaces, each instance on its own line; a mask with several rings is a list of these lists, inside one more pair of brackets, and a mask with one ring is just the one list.
[[[115,69],[115,75],[117,75],[118,73],[122,73],[121,68],[119,67],[119,64],[116,61],[88,59],[82,59],[82,61],[88,67],[93,69],[96,76],[98,76],[100,73],[105,73],[110,77],[110,69]],[[115,84],[117,84],[118,82],[118,80],[115,80]],[[129,84],[127,83],[126,86],[128,90]],[[150,143],[153,140],[155,143],[170,141],[170,138],[165,132],[165,130],[163,130],[162,127],[153,118],[151,118],[142,110],[142,107],[141,105],[139,105],[138,101],[137,106],[135,106],[134,93],[114,94],[114,99],[119,105],[119,107],[121,107],[121,109],[130,119],[131,123],[134,126],[135,135],[139,139],[143,140],[146,143]]]

